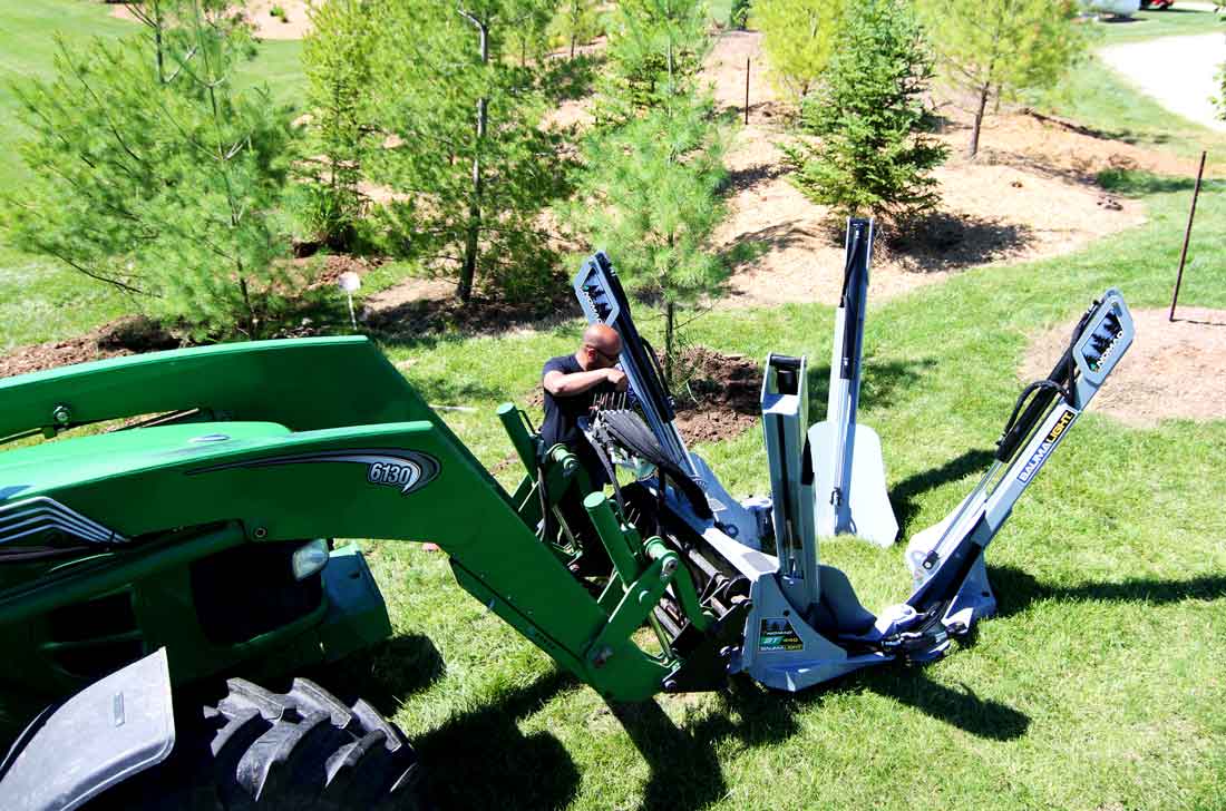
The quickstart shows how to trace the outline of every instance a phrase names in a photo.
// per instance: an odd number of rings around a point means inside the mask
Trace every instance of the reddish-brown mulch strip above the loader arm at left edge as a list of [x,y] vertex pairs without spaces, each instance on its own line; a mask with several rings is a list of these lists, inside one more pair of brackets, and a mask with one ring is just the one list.
[[67,341],[21,347],[0,356],[0,377],[180,345],[179,338],[157,322],[143,316],[125,316]]

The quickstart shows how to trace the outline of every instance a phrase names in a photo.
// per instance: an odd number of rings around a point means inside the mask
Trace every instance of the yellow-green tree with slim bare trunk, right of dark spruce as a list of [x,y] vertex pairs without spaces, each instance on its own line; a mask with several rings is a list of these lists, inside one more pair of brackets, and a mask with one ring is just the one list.
[[988,100],[1054,86],[1086,50],[1075,0],[916,0],[948,78],[972,99],[969,153]]

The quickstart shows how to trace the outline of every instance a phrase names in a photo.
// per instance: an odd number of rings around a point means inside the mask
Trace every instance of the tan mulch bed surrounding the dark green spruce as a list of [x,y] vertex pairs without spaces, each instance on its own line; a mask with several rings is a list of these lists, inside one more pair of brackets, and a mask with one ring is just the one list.
[[[760,34],[725,33],[705,75],[716,100],[739,110],[745,104],[747,59],[750,124],[737,134],[725,159],[731,174],[728,218],[714,239],[734,263],[729,295],[720,306],[835,304],[842,287],[842,227],[786,178],[776,146],[786,137],[786,108],[765,76]],[[934,173],[942,208],[917,233],[881,230],[869,282],[877,300],[969,267],[1068,254],[1144,222],[1143,206],[1094,185],[1102,169],[1189,169],[1186,162],[1020,113],[989,119],[982,136],[987,147],[967,160],[964,116],[942,111],[946,119],[938,137],[950,146],[949,160]]]

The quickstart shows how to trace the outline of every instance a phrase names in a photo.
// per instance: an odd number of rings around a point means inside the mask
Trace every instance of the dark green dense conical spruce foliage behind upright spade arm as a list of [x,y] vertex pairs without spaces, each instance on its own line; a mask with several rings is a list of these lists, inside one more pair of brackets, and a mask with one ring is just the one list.
[[931,209],[938,192],[928,173],[948,151],[926,135],[932,56],[910,5],[851,6],[840,42],[802,107],[802,130],[820,140],[785,147],[793,181],[814,202],[845,214],[905,219]]

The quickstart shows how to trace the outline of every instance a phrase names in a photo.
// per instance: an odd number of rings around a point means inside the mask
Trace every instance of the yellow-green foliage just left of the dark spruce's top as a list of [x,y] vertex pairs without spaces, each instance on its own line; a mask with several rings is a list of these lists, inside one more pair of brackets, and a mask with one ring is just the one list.
[[770,76],[782,96],[799,104],[826,69],[845,0],[756,0]]

